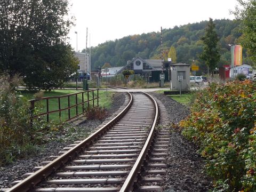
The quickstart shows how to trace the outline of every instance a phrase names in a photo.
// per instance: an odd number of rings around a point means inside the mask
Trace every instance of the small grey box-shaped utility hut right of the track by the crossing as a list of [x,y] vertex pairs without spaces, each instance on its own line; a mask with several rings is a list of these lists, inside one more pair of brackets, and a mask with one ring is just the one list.
[[172,90],[189,90],[190,65],[186,63],[176,63],[171,65]]

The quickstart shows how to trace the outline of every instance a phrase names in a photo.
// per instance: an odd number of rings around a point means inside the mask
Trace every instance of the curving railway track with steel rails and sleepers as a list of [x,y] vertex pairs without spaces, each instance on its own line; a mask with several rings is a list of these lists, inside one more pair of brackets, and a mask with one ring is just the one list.
[[163,191],[168,132],[156,129],[157,102],[127,94],[121,113],[2,191]]

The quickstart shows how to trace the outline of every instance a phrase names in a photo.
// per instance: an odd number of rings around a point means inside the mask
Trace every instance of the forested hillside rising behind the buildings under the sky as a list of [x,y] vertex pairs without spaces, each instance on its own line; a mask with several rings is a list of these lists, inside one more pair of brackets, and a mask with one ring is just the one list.
[[[163,29],[164,52],[169,51],[170,47],[174,46],[177,52],[177,63],[191,64],[195,60],[201,69],[199,73],[206,72],[206,66],[198,58],[198,54],[203,50],[203,42],[200,38],[204,34],[206,23],[207,21],[201,21],[199,23]],[[231,55],[228,44],[235,44],[239,36],[241,36],[241,33],[239,33],[239,21],[222,19],[215,20],[214,23],[221,48],[219,66],[229,65]],[[246,51],[243,50],[243,57],[246,56],[245,54]],[[92,68],[103,66],[106,62],[109,62],[113,67],[124,66],[127,60],[137,56],[143,59],[161,58],[159,32],[126,36],[115,41],[99,44],[97,47],[92,47]]]

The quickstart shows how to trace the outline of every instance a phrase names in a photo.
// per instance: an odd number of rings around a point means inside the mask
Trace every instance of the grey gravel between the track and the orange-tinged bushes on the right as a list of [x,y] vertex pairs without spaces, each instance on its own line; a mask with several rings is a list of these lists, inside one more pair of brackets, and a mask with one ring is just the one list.
[[[189,108],[181,103],[155,92],[153,97],[162,101],[169,114],[171,123],[179,123],[189,115]],[[167,157],[167,175],[165,192],[208,191],[212,189],[211,179],[203,173],[203,158],[196,153],[195,145],[183,138],[181,133],[170,130],[169,156]]]

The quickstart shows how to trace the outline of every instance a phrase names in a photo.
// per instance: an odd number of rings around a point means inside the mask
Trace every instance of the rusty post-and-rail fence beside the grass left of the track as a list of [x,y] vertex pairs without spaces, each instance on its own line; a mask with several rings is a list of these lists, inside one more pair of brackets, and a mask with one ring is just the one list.
[[[90,99],[90,92],[91,94],[91,99]],[[97,95],[94,96],[95,92],[97,92]],[[85,100],[87,96],[87,100]],[[74,98],[74,101],[71,101],[71,98]],[[79,99],[78,99],[79,98]],[[58,109],[53,109],[50,110],[49,108],[49,103],[51,102],[51,100],[58,100]],[[64,102],[63,99],[67,99],[67,106],[61,105],[61,101]],[[81,100],[81,102],[78,102],[78,100]],[[44,97],[41,99],[33,99],[33,100],[29,100],[30,101],[30,115],[31,115],[31,122],[33,122],[33,119],[39,117],[39,116],[46,116],[46,120],[47,122],[49,122],[49,116],[50,114],[53,113],[59,113],[59,119],[61,118],[61,112],[62,111],[68,111],[68,118],[66,119],[66,121],[76,118],[79,115],[82,115],[84,113],[84,109],[90,106],[90,101],[92,102],[92,106],[94,107],[94,101],[97,100],[97,106],[99,106],[99,90],[98,89],[94,89],[94,90],[89,90],[89,91],[83,91],[83,92],[78,92],[78,93],[72,93],[72,94],[67,94],[67,95],[61,95],[61,96],[54,96],[54,97]],[[35,104],[36,102],[41,102],[44,105],[46,105],[46,111],[44,113],[40,113],[40,114],[34,114],[35,112]],[[74,104],[73,104],[74,103]],[[86,105],[87,104],[87,105]],[[62,108],[61,108],[62,106]],[[82,107],[82,110],[80,111],[81,113],[78,112],[78,107]],[[55,108],[57,106],[54,106]],[[75,115],[73,116],[70,113],[71,109],[75,108]]]

